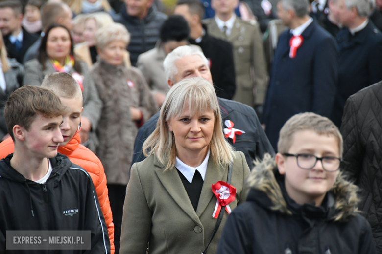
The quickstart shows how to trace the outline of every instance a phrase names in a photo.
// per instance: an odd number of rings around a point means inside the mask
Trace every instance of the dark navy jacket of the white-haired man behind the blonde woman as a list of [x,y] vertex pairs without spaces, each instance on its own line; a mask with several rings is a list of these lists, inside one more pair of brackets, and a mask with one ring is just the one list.
[[[225,120],[231,120],[234,123],[234,128],[245,131],[245,133],[240,136],[236,135],[235,143],[233,143],[230,138],[228,138],[228,142],[237,151],[244,153],[249,169],[253,168],[253,160],[263,159],[266,153],[274,155],[275,152],[252,107],[219,97],[217,97],[217,101],[220,105],[221,118],[223,120],[222,124],[224,124]],[[141,162],[146,158],[142,152],[143,142],[155,130],[158,119],[159,112],[153,115],[150,120],[139,129],[137,137],[135,138],[131,165],[136,162]],[[226,126],[224,126],[224,128],[226,128]]]

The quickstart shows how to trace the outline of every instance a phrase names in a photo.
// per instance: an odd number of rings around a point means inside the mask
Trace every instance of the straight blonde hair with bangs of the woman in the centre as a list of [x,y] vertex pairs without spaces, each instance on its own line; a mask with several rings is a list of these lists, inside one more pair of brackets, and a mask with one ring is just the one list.
[[215,116],[214,131],[209,144],[210,154],[215,164],[223,168],[233,161],[233,148],[223,134],[220,107],[214,87],[205,79],[184,79],[175,84],[167,93],[162,105],[157,127],[143,143],[143,154],[155,154],[158,160],[166,164],[166,169],[175,166],[176,146],[174,134],[169,130],[168,121],[189,108],[190,117],[196,113],[212,110]]

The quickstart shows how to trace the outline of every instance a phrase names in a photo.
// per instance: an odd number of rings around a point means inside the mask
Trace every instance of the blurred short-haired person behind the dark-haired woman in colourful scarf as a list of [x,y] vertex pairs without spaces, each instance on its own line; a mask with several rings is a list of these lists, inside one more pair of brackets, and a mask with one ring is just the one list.
[[[65,3],[47,2],[41,8],[41,23],[43,26],[43,32],[45,33],[48,27],[50,27],[52,24],[61,24],[68,28],[69,31],[72,30],[72,17],[72,11],[69,8],[69,6]],[[26,61],[32,60],[37,57],[41,44],[41,39],[43,36],[44,35],[42,33],[38,40],[34,42],[26,51],[23,59],[23,64],[25,64]]]

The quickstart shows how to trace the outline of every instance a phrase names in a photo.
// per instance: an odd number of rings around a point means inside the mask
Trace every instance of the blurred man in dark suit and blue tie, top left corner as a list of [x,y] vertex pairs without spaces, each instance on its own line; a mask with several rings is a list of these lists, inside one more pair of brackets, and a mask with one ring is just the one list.
[[23,6],[18,0],[0,2],[0,29],[8,57],[19,63],[23,63],[26,50],[38,39],[22,27],[23,17]]

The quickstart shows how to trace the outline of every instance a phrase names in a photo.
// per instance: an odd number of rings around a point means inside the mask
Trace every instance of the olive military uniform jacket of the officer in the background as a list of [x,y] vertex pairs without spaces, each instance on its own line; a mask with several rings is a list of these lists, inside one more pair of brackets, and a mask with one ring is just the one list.
[[263,105],[267,88],[267,65],[261,31],[257,21],[235,19],[230,35],[225,38],[215,18],[204,20],[208,33],[226,39],[234,49],[236,92],[234,101],[248,106]]

